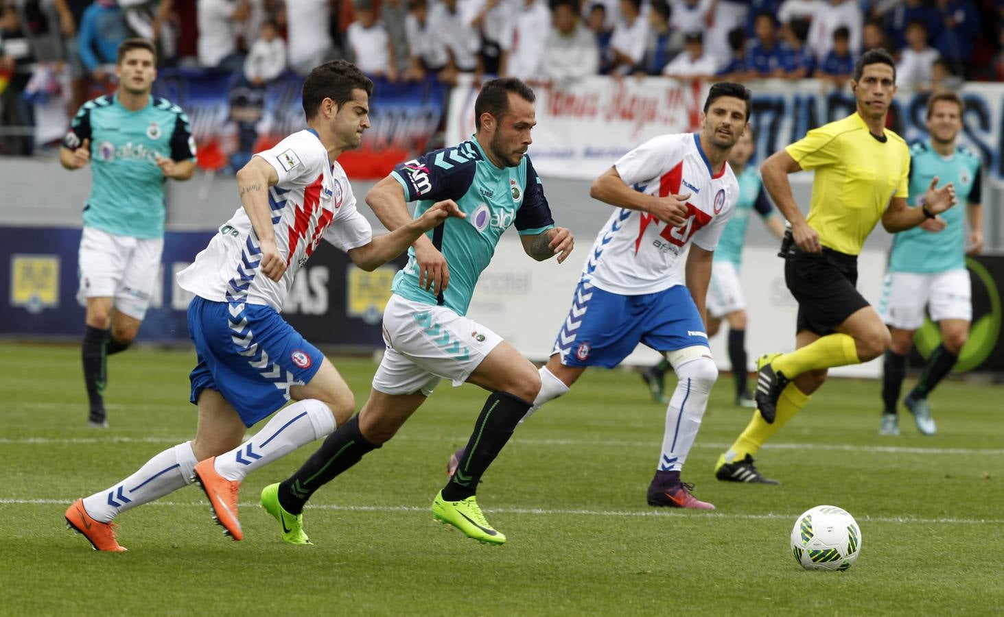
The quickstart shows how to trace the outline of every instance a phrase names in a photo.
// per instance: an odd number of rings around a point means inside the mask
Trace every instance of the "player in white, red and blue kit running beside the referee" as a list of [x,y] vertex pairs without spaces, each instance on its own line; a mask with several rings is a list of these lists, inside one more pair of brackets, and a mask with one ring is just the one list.
[[[713,510],[680,472],[718,377],[705,327],[705,297],[718,239],[739,186],[726,164],[746,129],[750,92],[716,83],[701,130],[655,137],[596,179],[590,195],[616,206],[586,258],[540,393],[527,416],[568,391],[589,366],[612,368],[641,342],[666,355],[679,382],[649,487],[652,506]],[[681,273],[681,257],[690,252]],[[456,458],[456,454],[454,456]]]

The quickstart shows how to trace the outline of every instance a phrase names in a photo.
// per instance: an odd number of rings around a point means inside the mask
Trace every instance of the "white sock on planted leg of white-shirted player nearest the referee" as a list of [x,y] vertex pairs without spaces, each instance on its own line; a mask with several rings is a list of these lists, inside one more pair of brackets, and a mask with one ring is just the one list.
[[718,378],[718,368],[708,357],[694,358],[676,367],[677,388],[666,409],[663,452],[656,467],[660,472],[678,472],[694,445],[701,418],[708,406],[708,394]]

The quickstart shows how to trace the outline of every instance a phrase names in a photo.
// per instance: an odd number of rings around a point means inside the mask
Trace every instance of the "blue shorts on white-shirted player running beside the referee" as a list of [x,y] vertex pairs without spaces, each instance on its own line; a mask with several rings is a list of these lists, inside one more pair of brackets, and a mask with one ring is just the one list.
[[708,346],[690,290],[674,285],[653,294],[622,296],[579,283],[551,355],[560,353],[565,366],[613,368],[639,343],[656,351]]

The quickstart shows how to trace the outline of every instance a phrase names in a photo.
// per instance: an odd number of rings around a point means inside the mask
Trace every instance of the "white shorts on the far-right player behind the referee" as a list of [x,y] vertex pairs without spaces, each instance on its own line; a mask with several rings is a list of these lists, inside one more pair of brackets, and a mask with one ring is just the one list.
[[880,314],[887,325],[917,330],[924,324],[924,307],[936,322],[943,319],[972,321],[969,271],[890,272],[886,275]]

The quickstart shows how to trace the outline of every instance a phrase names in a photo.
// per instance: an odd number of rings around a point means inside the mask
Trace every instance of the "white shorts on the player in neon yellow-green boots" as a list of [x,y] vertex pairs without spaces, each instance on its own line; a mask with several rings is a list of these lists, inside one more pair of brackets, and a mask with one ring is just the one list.
[[478,322],[444,306],[391,296],[384,309],[387,351],[373,375],[373,389],[385,394],[432,394],[441,378],[458,386],[502,342]]

